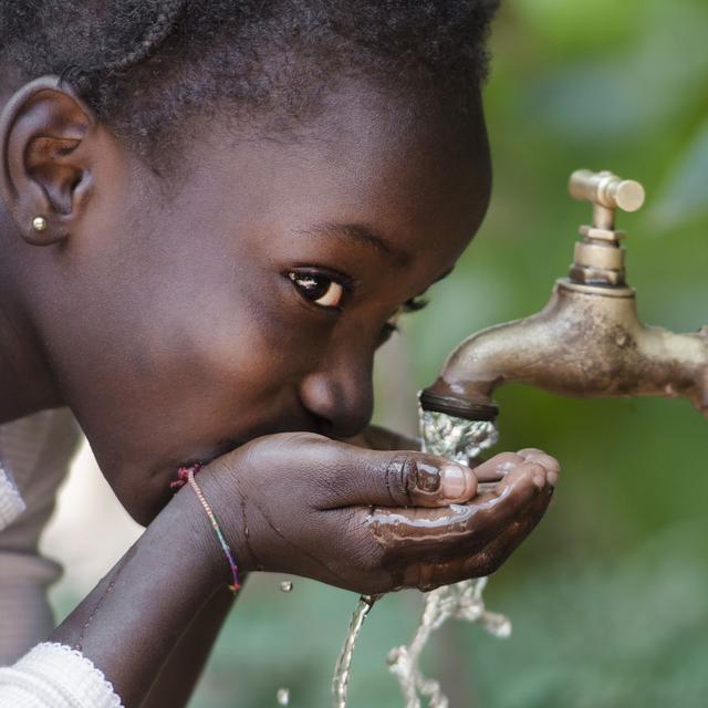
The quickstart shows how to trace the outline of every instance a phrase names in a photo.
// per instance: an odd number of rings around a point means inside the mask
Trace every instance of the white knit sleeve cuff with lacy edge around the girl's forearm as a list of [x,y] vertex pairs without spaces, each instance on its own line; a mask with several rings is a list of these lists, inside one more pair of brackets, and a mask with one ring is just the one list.
[[122,708],[105,676],[80,652],[38,644],[12,666],[0,667],[3,708]]

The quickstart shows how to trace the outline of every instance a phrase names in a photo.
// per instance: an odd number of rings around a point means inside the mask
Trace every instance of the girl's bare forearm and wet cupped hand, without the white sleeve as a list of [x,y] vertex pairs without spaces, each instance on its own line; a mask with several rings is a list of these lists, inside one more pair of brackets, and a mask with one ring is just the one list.
[[[504,473],[493,491],[477,496],[469,468],[435,456],[281,434],[215,460],[199,482],[244,572],[294,573],[372,594],[496,570],[545,511],[555,466],[548,456],[498,456],[479,473]],[[185,488],[51,641],[81,652],[135,708],[227,579],[211,524]],[[43,688],[52,680],[70,688],[66,675],[41,678]],[[2,691],[0,678],[0,699]],[[60,699],[58,706],[116,705],[72,702],[64,693]]]

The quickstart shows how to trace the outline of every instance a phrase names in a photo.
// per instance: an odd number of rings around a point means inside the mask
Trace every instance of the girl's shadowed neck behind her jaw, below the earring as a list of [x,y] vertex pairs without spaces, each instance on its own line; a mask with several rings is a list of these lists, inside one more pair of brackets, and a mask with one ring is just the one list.
[[23,301],[23,288],[38,284],[28,267],[28,248],[38,247],[22,241],[0,204],[0,423],[62,405]]

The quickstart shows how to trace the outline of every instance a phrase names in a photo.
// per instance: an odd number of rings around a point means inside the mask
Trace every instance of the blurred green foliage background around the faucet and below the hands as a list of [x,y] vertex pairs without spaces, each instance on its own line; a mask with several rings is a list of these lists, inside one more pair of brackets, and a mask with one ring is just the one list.
[[[504,3],[487,90],[493,200],[455,273],[408,322],[412,407],[462,337],[538,311],[566,273],[590,217],[566,194],[577,167],[647,188],[647,206],[620,216],[643,319],[685,331],[708,322],[707,35],[706,0]],[[392,392],[378,378],[377,416],[389,421]],[[545,448],[564,478],[490,583],[512,637],[461,625],[437,637],[428,658],[452,708],[705,706],[707,421],[684,400],[571,400],[521,386],[498,400],[503,448]],[[288,686],[291,706],[327,706],[355,597],[305,581],[284,595],[272,577],[253,580],[194,705],[275,706]],[[416,593],[375,607],[352,708],[400,706],[385,656],[419,607]]]

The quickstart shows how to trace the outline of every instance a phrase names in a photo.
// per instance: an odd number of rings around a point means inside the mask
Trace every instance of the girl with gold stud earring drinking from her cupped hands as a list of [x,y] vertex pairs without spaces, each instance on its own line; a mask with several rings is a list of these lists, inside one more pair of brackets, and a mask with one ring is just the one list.
[[540,520],[558,464],[538,450],[472,472],[342,441],[402,447],[366,431],[374,354],[487,209],[493,10],[2,7],[1,420],[69,406],[147,529],[0,669],[0,705],[184,705],[242,574],[429,589]]

